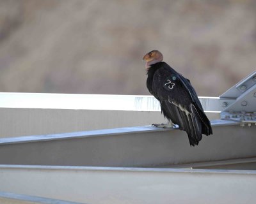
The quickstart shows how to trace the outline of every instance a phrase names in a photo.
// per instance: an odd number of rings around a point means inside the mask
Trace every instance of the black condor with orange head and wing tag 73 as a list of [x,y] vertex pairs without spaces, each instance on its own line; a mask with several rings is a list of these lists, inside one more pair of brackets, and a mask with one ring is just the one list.
[[[161,110],[169,124],[178,124],[188,133],[189,143],[198,145],[202,134],[211,135],[211,122],[207,118],[195,89],[187,78],[163,62],[163,55],[152,50],[143,57],[146,61],[147,88],[160,102]],[[165,128],[165,124],[152,124]]]

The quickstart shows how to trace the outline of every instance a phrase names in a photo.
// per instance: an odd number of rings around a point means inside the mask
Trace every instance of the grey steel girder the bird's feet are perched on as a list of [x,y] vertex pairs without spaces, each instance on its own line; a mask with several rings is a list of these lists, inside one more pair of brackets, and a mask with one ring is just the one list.
[[256,157],[256,126],[215,120],[212,127],[197,147],[184,131],[151,126],[3,138],[0,164],[140,167]]

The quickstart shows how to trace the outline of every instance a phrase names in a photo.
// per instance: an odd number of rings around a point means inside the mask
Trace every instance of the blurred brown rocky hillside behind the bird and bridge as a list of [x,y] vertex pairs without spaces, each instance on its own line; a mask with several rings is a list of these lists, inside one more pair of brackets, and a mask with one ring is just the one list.
[[256,1],[0,0],[0,91],[149,94],[158,49],[200,96],[256,67]]

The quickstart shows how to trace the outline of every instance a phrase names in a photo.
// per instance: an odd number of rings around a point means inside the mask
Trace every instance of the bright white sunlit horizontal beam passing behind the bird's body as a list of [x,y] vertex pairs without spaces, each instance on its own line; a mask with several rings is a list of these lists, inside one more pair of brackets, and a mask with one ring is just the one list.
[[[218,97],[199,97],[205,111],[220,112]],[[154,96],[0,92],[0,108],[160,111]]]

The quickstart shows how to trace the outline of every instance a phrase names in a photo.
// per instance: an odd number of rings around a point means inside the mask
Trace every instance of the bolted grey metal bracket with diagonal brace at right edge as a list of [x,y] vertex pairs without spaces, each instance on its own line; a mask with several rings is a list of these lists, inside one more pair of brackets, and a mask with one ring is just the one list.
[[221,119],[256,125],[256,71],[220,96]]

